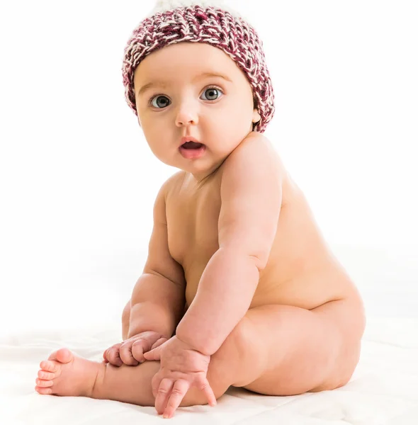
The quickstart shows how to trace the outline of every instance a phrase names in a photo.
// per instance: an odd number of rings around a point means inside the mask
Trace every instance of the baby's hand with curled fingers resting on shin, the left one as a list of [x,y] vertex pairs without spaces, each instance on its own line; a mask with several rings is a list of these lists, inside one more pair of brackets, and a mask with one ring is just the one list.
[[167,339],[159,332],[146,331],[135,336],[131,336],[125,341],[115,344],[103,353],[105,363],[111,363],[114,366],[123,364],[136,366],[146,359],[144,353],[157,348]]

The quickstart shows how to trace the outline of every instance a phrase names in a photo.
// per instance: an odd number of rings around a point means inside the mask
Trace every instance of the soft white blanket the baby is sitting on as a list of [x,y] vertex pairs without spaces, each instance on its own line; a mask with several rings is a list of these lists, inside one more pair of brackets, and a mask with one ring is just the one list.
[[[103,330],[106,329],[106,330]],[[418,424],[418,318],[369,317],[361,360],[337,390],[267,397],[230,388],[218,406],[181,408],[172,424]],[[39,363],[66,346],[101,361],[120,325],[14,333],[0,339],[0,424],[157,424],[153,407],[85,397],[38,395]]]

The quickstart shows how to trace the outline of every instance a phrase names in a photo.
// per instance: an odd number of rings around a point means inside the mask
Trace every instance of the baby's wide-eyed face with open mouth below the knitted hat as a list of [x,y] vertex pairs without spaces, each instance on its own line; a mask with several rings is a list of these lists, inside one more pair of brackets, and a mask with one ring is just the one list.
[[[260,119],[244,72],[205,43],[152,52],[135,70],[134,86],[138,121],[152,152],[198,180],[217,169]],[[187,136],[203,148],[180,148]]]

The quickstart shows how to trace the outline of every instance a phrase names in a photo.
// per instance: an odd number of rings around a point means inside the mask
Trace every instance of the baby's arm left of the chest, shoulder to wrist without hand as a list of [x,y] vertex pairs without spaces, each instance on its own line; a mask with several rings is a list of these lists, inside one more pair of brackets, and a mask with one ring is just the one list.
[[183,314],[186,280],[183,268],[169,253],[167,238],[165,198],[171,179],[164,183],[154,203],[148,258],[132,291],[128,338],[143,331],[157,331],[171,338]]

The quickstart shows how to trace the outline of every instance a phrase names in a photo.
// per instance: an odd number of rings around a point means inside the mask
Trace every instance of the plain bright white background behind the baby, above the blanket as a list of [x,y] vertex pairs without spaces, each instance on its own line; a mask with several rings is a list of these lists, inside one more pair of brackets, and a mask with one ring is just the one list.
[[[145,1],[0,6],[1,331],[115,322],[142,272],[153,157],[121,65]],[[230,1],[264,40],[266,136],[369,314],[418,305],[415,1]]]

